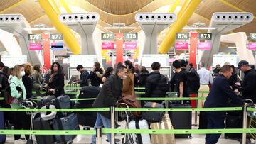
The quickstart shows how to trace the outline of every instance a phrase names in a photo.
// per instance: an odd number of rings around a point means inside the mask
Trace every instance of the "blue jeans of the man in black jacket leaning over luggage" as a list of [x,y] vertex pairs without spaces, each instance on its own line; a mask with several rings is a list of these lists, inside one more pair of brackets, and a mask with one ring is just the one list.
[[[97,119],[95,122],[95,126],[94,129],[96,130],[96,128],[111,128],[111,121],[108,118],[105,118],[105,116],[102,116],[100,113],[97,113]],[[111,143],[111,134],[107,133],[107,139],[110,141]],[[92,144],[96,143],[96,135],[92,135]]]

